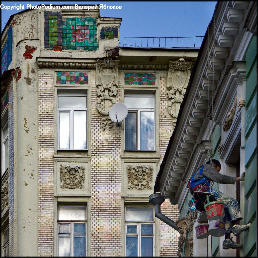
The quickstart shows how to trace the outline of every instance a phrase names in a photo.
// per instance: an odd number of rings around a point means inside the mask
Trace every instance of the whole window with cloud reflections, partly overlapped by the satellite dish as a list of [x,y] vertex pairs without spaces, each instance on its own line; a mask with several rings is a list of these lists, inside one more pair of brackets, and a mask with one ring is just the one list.
[[126,94],[125,150],[154,150],[154,94]]

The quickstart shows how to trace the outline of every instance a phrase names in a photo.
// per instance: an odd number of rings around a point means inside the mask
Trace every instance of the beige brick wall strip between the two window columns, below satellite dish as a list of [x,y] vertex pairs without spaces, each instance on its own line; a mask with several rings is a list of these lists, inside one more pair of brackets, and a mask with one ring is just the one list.
[[[101,128],[91,77],[91,256],[121,256],[121,128]],[[120,84],[119,84],[120,85]],[[121,102],[119,87],[116,102]]]

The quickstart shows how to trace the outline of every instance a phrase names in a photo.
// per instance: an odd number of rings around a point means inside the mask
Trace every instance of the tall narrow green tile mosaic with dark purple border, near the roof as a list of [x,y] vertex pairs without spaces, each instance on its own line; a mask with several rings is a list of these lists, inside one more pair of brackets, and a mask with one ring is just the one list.
[[45,48],[53,49],[55,46],[62,46],[62,12],[44,12],[44,18]]

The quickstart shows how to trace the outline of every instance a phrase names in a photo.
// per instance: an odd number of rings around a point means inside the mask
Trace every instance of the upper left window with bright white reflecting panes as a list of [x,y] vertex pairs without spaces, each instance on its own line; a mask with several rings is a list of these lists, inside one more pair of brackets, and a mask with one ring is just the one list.
[[59,93],[58,149],[87,149],[87,95]]

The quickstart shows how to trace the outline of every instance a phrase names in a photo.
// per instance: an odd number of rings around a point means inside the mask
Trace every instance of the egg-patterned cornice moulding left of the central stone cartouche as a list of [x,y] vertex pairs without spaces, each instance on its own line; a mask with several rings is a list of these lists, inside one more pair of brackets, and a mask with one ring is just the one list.
[[37,61],[39,68],[96,69],[96,62]]

